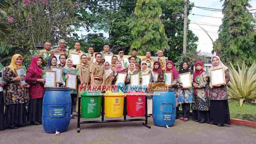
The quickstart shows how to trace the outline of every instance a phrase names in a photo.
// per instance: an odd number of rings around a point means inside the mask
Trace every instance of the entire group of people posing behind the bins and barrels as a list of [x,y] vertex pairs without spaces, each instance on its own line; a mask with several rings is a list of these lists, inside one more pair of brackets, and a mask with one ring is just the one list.
[[[195,63],[195,71],[189,68],[188,62],[182,62],[179,71],[176,70],[174,63],[166,60],[163,51],[159,50],[158,57],[151,58],[151,52],[146,52],[146,58],[137,56],[136,48],[132,49],[132,56],[124,58],[124,50],[118,51],[118,56],[113,55],[109,51],[109,45],[103,46],[103,51],[94,53],[92,46],[88,47],[88,53],[80,50],[79,42],[75,42],[74,50],[67,51],[65,49],[65,41],[59,41],[59,47],[52,51],[51,43],[45,43],[45,49],[41,50],[41,54],[51,54],[48,60],[39,56],[33,57],[31,64],[26,71],[26,75],[17,76],[15,68],[22,67],[23,58],[19,54],[13,55],[11,64],[2,70],[3,82],[0,83],[0,130],[9,127],[18,129],[26,122],[31,125],[42,124],[42,101],[45,93],[45,79],[42,78],[43,70],[50,70],[51,66],[63,68],[63,77],[68,79],[67,73],[77,73],[79,69],[78,84],[81,83],[96,84],[97,86],[106,84],[115,84],[118,73],[127,73],[125,84],[131,83],[131,75],[139,73],[139,75],[150,74],[150,83],[164,83],[164,73],[173,72],[173,81],[169,87],[175,89],[176,105],[182,105],[183,114],[180,120],[188,121],[190,108],[192,108],[193,119],[199,123],[209,122],[218,126],[230,124],[230,116],[227,101],[227,86],[217,85],[211,86],[206,80],[206,72],[203,70],[203,63]],[[63,53],[58,59],[53,53]],[[81,62],[74,65],[67,53],[76,53],[80,55]],[[104,61],[104,55],[113,55],[111,62]],[[60,64],[57,64],[57,60]],[[44,61],[47,65],[42,67]],[[226,83],[230,81],[228,68],[221,62],[218,56],[213,56],[211,69],[224,67]],[[178,76],[182,73],[191,73],[191,81],[193,87],[182,89],[182,83],[179,83]],[[158,73],[158,78],[154,79],[154,73]],[[78,74],[78,73],[77,73]],[[21,86],[20,81],[25,80],[26,85]],[[140,78],[140,81],[142,78]],[[57,84],[58,87],[65,87],[65,82]],[[75,97],[80,97],[81,93],[77,90],[70,90],[71,93],[71,114]],[[3,89],[6,89],[5,111]],[[152,97],[148,97],[152,99]],[[26,109],[26,107],[28,107]],[[78,112],[78,100],[76,102],[76,112]],[[179,118],[178,113],[176,114]],[[71,118],[74,116],[71,115]]]

